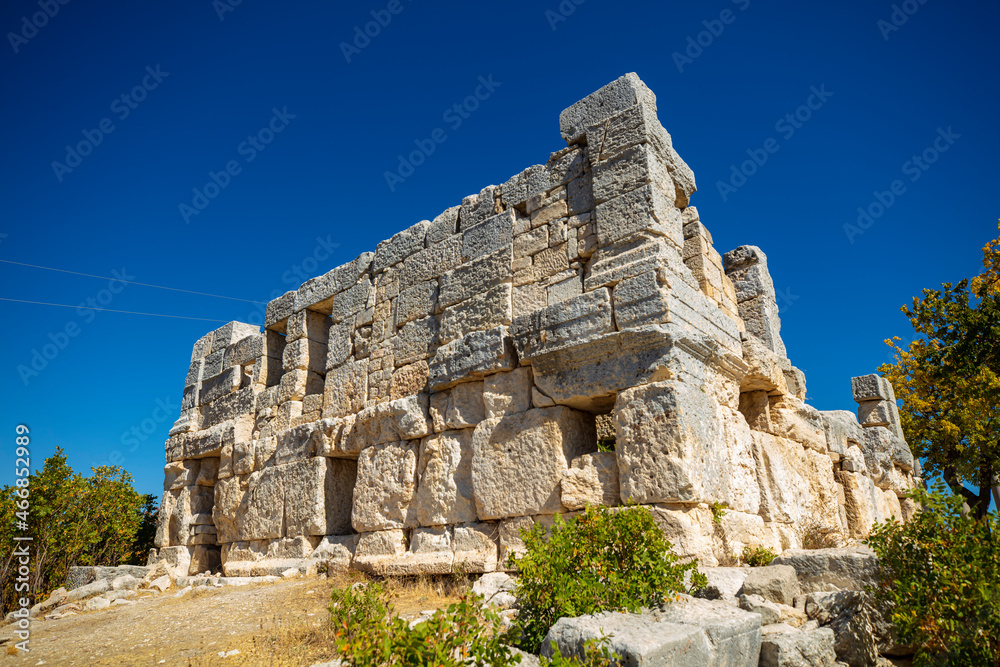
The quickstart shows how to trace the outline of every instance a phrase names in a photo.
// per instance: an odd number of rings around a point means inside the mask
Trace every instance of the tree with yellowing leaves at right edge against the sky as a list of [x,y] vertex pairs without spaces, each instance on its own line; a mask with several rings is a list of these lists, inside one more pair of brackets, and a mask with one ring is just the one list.
[[983,267],[904,306],[918,338],[906,348],[887,340],[895,362],[879,369],[902,400],[913,454],[978,519],[1000,473],[1000,238],[983,248]]

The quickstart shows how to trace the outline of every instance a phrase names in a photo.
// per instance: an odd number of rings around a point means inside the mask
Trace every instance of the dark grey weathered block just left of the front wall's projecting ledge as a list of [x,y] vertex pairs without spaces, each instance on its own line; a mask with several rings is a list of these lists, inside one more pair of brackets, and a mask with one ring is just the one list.
[[514,345],[506,327],[475,331],[442,345],[430,362],[431,391],[481,378],[517,365]]

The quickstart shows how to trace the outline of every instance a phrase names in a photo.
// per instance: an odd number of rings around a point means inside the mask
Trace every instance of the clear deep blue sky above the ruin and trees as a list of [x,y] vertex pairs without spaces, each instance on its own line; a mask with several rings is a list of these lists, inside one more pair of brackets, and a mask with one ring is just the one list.
[[[38,0],[0,10],[0,259],[267,301],[544,162],[563,145],[559,112],[630,71],[658,95],[717,249],[767,253],[784,340],[821,409],[853,409],[850,377],[888,359],[884,338],[908,335],[899,307],[975,273],[997,235],[995,3],[911,0],[890,31],[889,1],[566,0],[568,16],[556,0],[398,0],[396,14],[388,0],[48,1],[58,12],[35,17],[37,30],[24,17],[43,11]],[[373,11],[391,20],[345,56]],[[674,53],[688,48],[679,67]],[[498,84],[488,99],[460,124],[445,118],[479,77]],[[799,110],[809,102],[818,108]],[[288,115],[264,133],[273,141],[244,144],[275,109]],[[809,119],[782,120],[797,110]],[[102,124],[113,130],[85,143],[88,155],[67,157]],[[397,156],[438,128],[447,140],[390,190]],[[763,150],[768,139],[777,152]],[[906,164],[925,149],[934,164]],[[766,163],[730,181],[748,151]],[[186,222],[180,205],[230,161],[238,173]],[[844,225],[895,180],[901,194],[850,242]],[[261,320],[247,302],[117,283],[112,293],[8,264],[0,285],[6,298]],[[78,470],[114,457],[141,491],[161,493],[191,346],[219,324],[9,302],[0,314],[0,483],[26,423],[33,463],[57,445]],[[25,381],[19,366],[59,343]]]

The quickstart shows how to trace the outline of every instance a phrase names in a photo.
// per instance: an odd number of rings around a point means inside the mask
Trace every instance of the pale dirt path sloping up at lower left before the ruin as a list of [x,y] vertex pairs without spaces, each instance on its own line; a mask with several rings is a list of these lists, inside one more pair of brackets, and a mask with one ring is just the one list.
[[[325,633],[332,583],[307,578],[271,585],[199,587],[33,624],[30,652],[9,655],[13,628],[0,628],[0,665],[312,665],[331,659]],[[431,589],[402,596],[403,615],[454,598]],[[17,641],[16,639],[13,641]],[[239,654],[220,658],[233,650]]]

